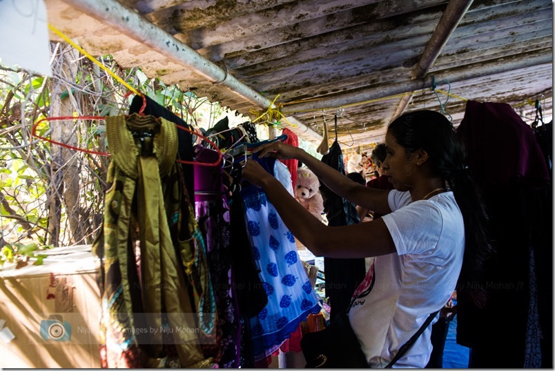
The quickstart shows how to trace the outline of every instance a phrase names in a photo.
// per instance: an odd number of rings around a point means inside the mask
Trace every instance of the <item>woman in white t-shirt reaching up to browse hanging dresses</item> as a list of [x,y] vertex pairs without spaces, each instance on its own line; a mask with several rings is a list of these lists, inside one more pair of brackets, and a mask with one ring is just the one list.
[[[382,168],[395,187],[391,191],[355,183],[300,148],[274,142],[255,150],[260,157],[302,161],[333,192],[384,215],[368,223],[324,225],[255,161],[243,172],[264,189],[289,230],[313,254],[376,257],[349,310],[349,322],[372,368],[387,365],[456,288],[459,296],[483,305],[479,278],[491,250],[485,210],[451,122],[430,110],[409,112],[389,125],[385,143]],[[395,366],[424,368],[431,353],[430,332],[431,326]]]

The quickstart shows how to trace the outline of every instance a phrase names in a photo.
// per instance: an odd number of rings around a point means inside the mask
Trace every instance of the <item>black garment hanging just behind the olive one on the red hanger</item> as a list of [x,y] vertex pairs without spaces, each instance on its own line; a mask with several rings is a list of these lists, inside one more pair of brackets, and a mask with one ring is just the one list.
[[[144,96],[146,99],[146,107],[143,111],[144,114],[151,114],[154,117],[163,117],[164,119],[175,123],[176,125],[183,126],[184,128],[191,129],[188,123],[180,119],[175,113],[170,110],[160,106],[156,101]],[[143,106],[143,97],[135,95],[131,105],[129,106],[129,114],[138,113]],[[185,130],[177,129],[177,141],[179,145],[177,146],[177,157],[184,161],[193,161],[193,134],[186,132]],[[182,169],[185,177],[185,185],[188,194],[193,197],[195,194],[195,173],[193,165],[182,163]]]

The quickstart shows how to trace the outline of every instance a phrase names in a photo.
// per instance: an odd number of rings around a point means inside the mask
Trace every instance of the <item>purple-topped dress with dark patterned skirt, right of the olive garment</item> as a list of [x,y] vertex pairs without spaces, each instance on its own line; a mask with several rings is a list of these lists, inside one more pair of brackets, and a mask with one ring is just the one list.
[[[213,163],[218,154],[202,146],[195,147],[195,159]],[[220,368],[238,368],[236,353],[240,339],[239,312],[235,305],[231,261],[231,219],[222,183],[222,164],[217,167],[195,166],[195,214],[206,241],[206,253],[214,288],[219,319],[217,343],[203,346],[204,356],[213,357]]]

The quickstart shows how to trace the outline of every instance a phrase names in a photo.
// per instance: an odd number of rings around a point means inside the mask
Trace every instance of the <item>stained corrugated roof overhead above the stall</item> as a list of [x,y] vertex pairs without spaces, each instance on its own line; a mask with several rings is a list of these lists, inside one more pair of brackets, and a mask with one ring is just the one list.
[[[148,77],[243,114],[262,110],[228,81],[213,83],[141,32],[128,32],[159,28],[168,49],[184,44],[220,76],[269,101],[279,94],[282,112],[308,127],[292,130],[312,141],[324,120],[333,130],[338,110],[339,139],[354,146],[382,141],[399,112],[440,110],[447,98],[455,124],[464,99],[517,110],[542,99],[552,114],[550,0],[100,0],[95,11],[87,2],[46,0],[48,21],[91,54],[112,54],[123,67],[141,66]],[[122,5],[145,22],[130,21]]]

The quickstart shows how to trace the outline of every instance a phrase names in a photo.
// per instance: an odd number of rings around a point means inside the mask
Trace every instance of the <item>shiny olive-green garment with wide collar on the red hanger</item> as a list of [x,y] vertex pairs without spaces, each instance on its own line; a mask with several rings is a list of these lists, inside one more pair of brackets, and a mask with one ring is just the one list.
[[[164,205],[168,189],[175,188],[162,183],[171,184],[179,171],[175,166],[175,126],[165,119],[138,114],[106,117],[106,136],[113,154],[107,179],[110,188],[102,238],[93,245],[103,263],[101,365],[164,367],[171,353],[165,335],[169,331],[164,331],[168,328],[174,330],[171,348],[183,367],[211,365],[213,361],[204,359],[194,331],[193,305],[178,252],[187,254],[173,246]],[[175,331],[177,328],[193,331]]]

